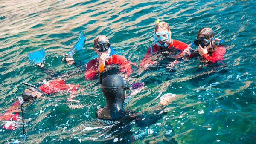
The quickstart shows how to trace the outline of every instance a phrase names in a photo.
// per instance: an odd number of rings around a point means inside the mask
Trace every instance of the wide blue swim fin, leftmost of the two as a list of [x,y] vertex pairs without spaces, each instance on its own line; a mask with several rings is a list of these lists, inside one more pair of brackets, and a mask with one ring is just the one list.
[[29,60],[31,60],[34,64],[44,63],[44,57],[45,57],[44,48],[42,48],[39,51],[29,52],[28,56],[29,56]]

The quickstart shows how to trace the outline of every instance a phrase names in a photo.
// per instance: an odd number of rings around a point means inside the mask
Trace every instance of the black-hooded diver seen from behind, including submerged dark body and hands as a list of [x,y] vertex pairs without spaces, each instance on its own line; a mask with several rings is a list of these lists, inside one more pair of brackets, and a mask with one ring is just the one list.
[[[131,129],[133,126],[131,125],[131,121],[133,121],[137,127],[140,127],[140,130],[143,131],[145,129],[147,131],[148,127],[157,123],[158,120],[167,114],[167,112],[164,112],[165,110],[163,110],[163,107],[157,107],[154,109],[154,112],[149,113],[136,113],[131,110],[124,109],[123,104],[127,97],[126,90],[129,88],[130,90],[138,89],[143,86],[144,84],[142,82],[136,82],[131,85],[130,88],[128,81],[124,81],[119,75],[108,75],[102,80],[102,92],[105,95],[106,105],[105,107],[96,110],[96,118],[111,121],[122,120],[119,122],[119,124],[115,124],[108,132],[110,135],[115,135],[115,137],[121,138],[120,141],[130,143],[134,142],[138,137],[141,137],[144,134],[147,135],[147,133],[144,132],[142,132],[140,136],[138,136],[136,133],[132,133]],[[170,100],[170,98],[171,97],[167,96],[165,99],[163,99],[163,101],[167,102]],[[166,105],[162,102],[161,98],[160,100],[160,104],[162,106]],[[166,125],[165,128],[169,132],[167,132],[167,136],[175,135],[172,130],[172,126]],[[127,137],[127,132],[131,133],[132,136]],[[175,139],[172,138],[171,140],[173,143],[177,144]]]

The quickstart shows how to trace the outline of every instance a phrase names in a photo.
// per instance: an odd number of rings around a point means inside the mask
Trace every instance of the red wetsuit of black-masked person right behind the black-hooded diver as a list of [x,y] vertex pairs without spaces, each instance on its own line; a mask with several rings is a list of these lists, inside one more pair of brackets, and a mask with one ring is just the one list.
[[[124,56],[113,54],[109,58],[109,60],[106,61],[105,63],[105,65],[111,65],[111,64],[121,65],[120,71],[127,72],[126,77],[128,77],[132,72],[131,62],[128,61]],[[97,70],[98,66],[99,66],[99,60],[97,58],[90,60],[85,66],[85,69],[86,69],[85,78],[89,80],[93,80],[93,77],[98,73],[98,70]]]

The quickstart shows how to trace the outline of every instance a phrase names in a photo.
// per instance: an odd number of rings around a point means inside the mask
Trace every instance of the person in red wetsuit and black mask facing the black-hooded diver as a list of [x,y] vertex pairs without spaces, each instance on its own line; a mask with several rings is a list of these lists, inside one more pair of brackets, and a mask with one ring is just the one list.
[[128,77],[131,72],[131,62],[128,61],[124,56],[111,55],[111,44],[109,43],[108,37],[105,35],[98,35],[94,39],[94,51],[98,54],[98,58],[90,60],[85,66],[85,78],[93,80],[95,75],[99,73],[99,66],[103,64],[111,65],[118,64],[121,66],[120,72],[126,72],[125,76]]

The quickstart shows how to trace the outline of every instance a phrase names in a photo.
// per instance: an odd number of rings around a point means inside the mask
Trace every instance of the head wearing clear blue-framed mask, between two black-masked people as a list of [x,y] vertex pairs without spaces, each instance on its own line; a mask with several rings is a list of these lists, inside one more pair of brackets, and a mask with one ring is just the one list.
[[171,42],[171,30],[170,26],[166,22],[159,22],[156,24],[154,29],[154,40],[158,46],[167,47]]

